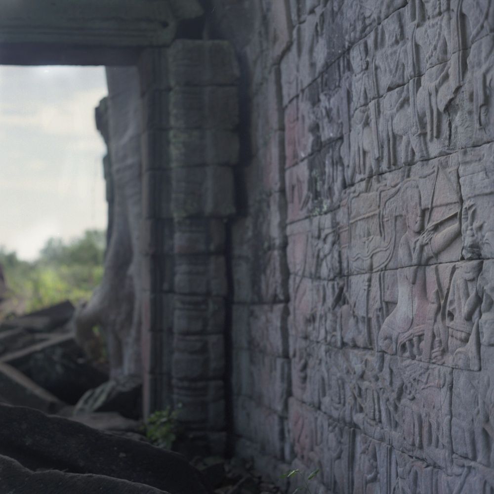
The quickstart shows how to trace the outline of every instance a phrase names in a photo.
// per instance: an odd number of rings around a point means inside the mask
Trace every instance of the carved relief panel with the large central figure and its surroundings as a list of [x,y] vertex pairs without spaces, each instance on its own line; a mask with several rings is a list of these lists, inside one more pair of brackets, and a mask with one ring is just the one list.
[[490,287],[482,262],[461,261],[467,206],[457,157],[412,170],[415,176],[401,181],[403,174],[354,188],[341,204],[349,276],[341,282],[338,332],[350,346],[478,370],[479,342],[489,338],[482,332],[480,308],[489,301],[482,292]]

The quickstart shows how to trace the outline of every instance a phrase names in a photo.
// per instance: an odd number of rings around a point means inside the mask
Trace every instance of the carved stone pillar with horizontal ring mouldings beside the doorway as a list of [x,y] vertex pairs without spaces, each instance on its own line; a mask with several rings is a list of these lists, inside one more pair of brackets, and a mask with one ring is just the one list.
[[146,413],[225,440],[226,220],[235,213],[238,69],[224,41],[176,40],[141,57]]

